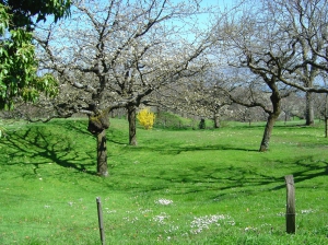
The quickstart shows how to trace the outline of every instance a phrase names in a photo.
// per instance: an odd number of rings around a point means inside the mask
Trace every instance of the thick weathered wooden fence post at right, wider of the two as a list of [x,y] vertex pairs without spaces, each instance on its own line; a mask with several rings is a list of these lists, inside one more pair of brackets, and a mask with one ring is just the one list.
[[295,185],[293,175],[284,176],[286,185],[286,211],[285,211],[285,225],[286,233],[295,234]]

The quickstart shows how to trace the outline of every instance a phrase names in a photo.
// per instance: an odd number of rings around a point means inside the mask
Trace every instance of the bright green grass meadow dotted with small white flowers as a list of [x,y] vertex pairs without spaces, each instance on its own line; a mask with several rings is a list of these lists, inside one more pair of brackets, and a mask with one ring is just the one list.
[[[112,119],[108,178],[95,175],[83,119],[5,122],[0,139],[0,244],[327,244],[328,141],[321,125],[278,122],[143,130]],[[296,187],[296,234],[285,234],[284,176]],[[168,203],[169,202],[169,203]],[[168,205],[165,205],[168,203]]]

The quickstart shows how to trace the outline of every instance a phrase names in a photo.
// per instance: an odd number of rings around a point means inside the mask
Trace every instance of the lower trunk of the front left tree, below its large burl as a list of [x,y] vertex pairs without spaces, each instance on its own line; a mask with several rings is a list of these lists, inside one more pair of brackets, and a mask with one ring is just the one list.
[[101,131],[97,136],[97,175],[107,177],[107,147],[106,147],[106,129]]

